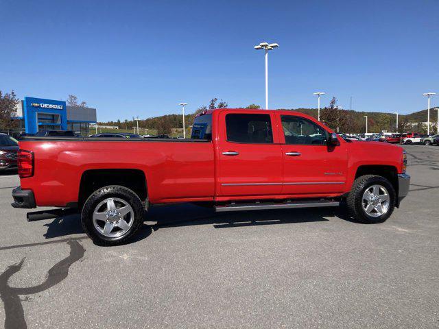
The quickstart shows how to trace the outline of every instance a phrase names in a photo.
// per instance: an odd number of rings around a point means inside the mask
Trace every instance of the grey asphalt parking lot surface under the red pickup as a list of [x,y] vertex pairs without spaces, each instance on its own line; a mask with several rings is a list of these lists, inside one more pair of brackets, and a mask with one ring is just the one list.
[[27,223],[0,176],[0,323],[10,328],[438,328],[439,147],[405,146],[410,195],[344,212],[158,207],[97,247],[78,215]]

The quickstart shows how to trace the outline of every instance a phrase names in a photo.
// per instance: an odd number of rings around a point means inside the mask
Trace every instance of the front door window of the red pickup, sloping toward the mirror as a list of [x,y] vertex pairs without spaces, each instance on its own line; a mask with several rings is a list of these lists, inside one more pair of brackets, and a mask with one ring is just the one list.
[[316,123],[302,117],[281,115],[285,144],[327,145],[328,132]]

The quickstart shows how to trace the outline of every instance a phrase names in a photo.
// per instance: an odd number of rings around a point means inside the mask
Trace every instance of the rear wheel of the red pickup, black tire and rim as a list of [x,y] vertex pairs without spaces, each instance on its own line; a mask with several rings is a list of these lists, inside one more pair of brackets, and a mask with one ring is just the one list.
[[121,245],[141,228],[143,213],[141,200],[129,188],[104,186],[85,202],[82,228],[97,245]]

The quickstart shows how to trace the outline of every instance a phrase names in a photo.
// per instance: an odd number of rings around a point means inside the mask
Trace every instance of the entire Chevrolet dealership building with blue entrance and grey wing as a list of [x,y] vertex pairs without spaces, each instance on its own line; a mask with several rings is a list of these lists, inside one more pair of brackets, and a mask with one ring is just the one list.
[[96,109],[67,106],[65,101],[25,97],[16,106],[16,117],[21,132],[36,134],[40,130],[73,130],[82,136],[90,134],[96,123]]

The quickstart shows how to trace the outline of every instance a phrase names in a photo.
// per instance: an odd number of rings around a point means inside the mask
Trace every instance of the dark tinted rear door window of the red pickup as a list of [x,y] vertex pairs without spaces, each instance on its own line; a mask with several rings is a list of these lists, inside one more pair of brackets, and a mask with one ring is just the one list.
[[229,142],[273,143],[270,114],[227,114],[226,130]]

